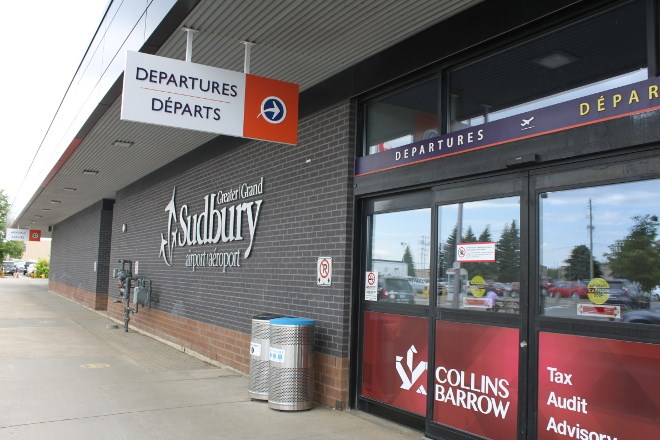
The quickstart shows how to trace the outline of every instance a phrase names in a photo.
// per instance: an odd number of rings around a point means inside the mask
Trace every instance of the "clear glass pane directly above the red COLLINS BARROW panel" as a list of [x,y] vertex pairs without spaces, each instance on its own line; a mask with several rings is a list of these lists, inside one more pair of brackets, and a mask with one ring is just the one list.
[[519,313],[519,197],[438,207],[438,239],[439,307]]

